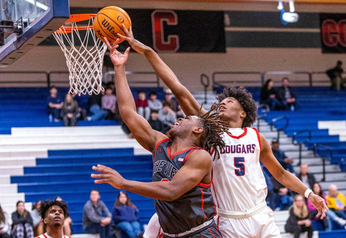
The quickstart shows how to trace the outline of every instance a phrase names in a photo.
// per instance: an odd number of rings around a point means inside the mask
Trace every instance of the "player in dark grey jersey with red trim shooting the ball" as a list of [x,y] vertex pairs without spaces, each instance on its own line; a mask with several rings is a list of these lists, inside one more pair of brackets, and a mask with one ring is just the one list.
[[120,54],[116,50],[117,42],[113,46],[107,42],[107,46],[115,65],[119,112],[136,140],[153,152],[153,182],[126,180],[117,171],[102,165],[93,167],[102,174],[92,174],[91,177],[100,179],[95,183],[109,183],[115,188],[154,198],[166,238],[219,238],[213,220],[216,209],[210,192],[212,159],[208,151],[222,146],[224,142],[219,139],[218,132],[222,133],[228,127],[218,120],[217,113],[209,111],[200,117],[180,118],[169,131],[171,139],[153,130],[136,113],[124,66],[129,48]]

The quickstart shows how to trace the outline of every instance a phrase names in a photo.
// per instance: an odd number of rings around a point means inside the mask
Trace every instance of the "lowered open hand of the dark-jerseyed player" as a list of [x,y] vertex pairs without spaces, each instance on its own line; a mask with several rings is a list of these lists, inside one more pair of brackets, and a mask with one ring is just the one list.
[[99,178],[94,181],[95,184],[108,183],[115,188],[122,189],[125,179],[114,169],[104,165],[97,165],[92,167],[93,170],[102,174],[91,174],[92,178]]

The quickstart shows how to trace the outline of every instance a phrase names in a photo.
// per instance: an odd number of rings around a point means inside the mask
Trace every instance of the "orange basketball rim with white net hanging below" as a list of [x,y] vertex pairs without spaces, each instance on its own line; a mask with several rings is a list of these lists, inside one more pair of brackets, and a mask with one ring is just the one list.
[[[70,15],[66,23],[70,23],[71,26],[63,25],[53,33],[66,57],[70,71],[69,93],[71,94],[91,95],[104,91],[101,79],[103,56],[107,45],[94,34],[95,16],[96,14]],[[77,26],[77,22],[86,20],[89,20],[88,26]],[[86,30],[84,38],[79,35],[79,30]]]

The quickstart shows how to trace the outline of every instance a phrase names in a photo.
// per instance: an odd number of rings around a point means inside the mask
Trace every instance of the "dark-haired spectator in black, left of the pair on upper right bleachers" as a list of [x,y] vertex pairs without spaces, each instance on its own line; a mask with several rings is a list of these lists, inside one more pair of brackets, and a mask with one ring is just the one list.
[[272,79],[268,79],[261,89],[261,103],[267,104],[271,110],[282,109],[282,104],[279,101],[277,92],[274,89]]

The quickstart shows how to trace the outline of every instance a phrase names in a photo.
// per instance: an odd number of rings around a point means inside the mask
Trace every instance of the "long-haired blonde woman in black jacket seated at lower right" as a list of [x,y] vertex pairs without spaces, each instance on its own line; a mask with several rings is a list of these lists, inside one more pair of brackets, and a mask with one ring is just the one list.
[[293,205],[290,208],[290,216],[285,225],[286,232],[293,233],[294,238],[299,238],[301,232],[308,232],[308,238],[312,238],[312,226],[308,208],[304,197],[295,195]]

